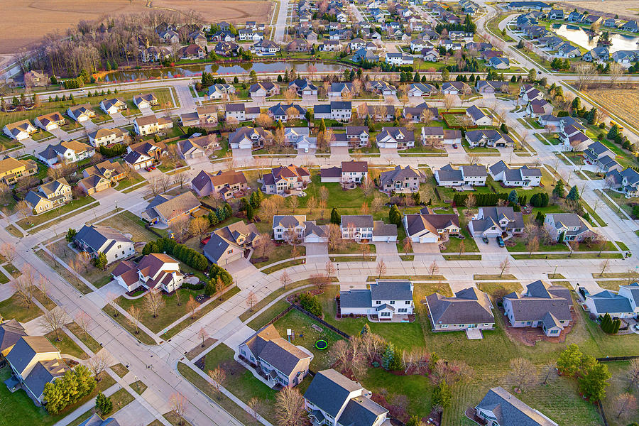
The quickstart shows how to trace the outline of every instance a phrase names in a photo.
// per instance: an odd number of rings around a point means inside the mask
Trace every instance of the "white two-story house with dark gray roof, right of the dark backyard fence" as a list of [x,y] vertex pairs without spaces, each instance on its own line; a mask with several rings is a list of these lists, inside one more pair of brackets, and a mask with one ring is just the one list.
[[409,280],[376,280],[368,288],[350,288],[339,292],[339,313],[366,315],[376,320],[413,315],[413,283]]

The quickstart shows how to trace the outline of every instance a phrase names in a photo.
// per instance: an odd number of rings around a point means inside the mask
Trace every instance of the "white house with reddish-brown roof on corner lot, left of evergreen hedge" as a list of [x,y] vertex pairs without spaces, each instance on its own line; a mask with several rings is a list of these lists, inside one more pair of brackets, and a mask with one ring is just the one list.
[[129,292],[142,287],[173,293],[182,287],[184,280],[184,274],[180,272],[180,262],[165,253],[147,254],[138,263],[122,261],[111,275],[116,283]]

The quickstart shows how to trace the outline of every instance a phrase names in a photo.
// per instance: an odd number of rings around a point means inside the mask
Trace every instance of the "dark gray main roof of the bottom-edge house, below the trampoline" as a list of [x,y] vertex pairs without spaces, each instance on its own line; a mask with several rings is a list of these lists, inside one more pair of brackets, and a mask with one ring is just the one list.
[[333,369],[322,370],[315,374],[304,393],[304,398],[317,405],[324,413],[336,417],[350,393],[361,388],[359,383],[351,381]]

